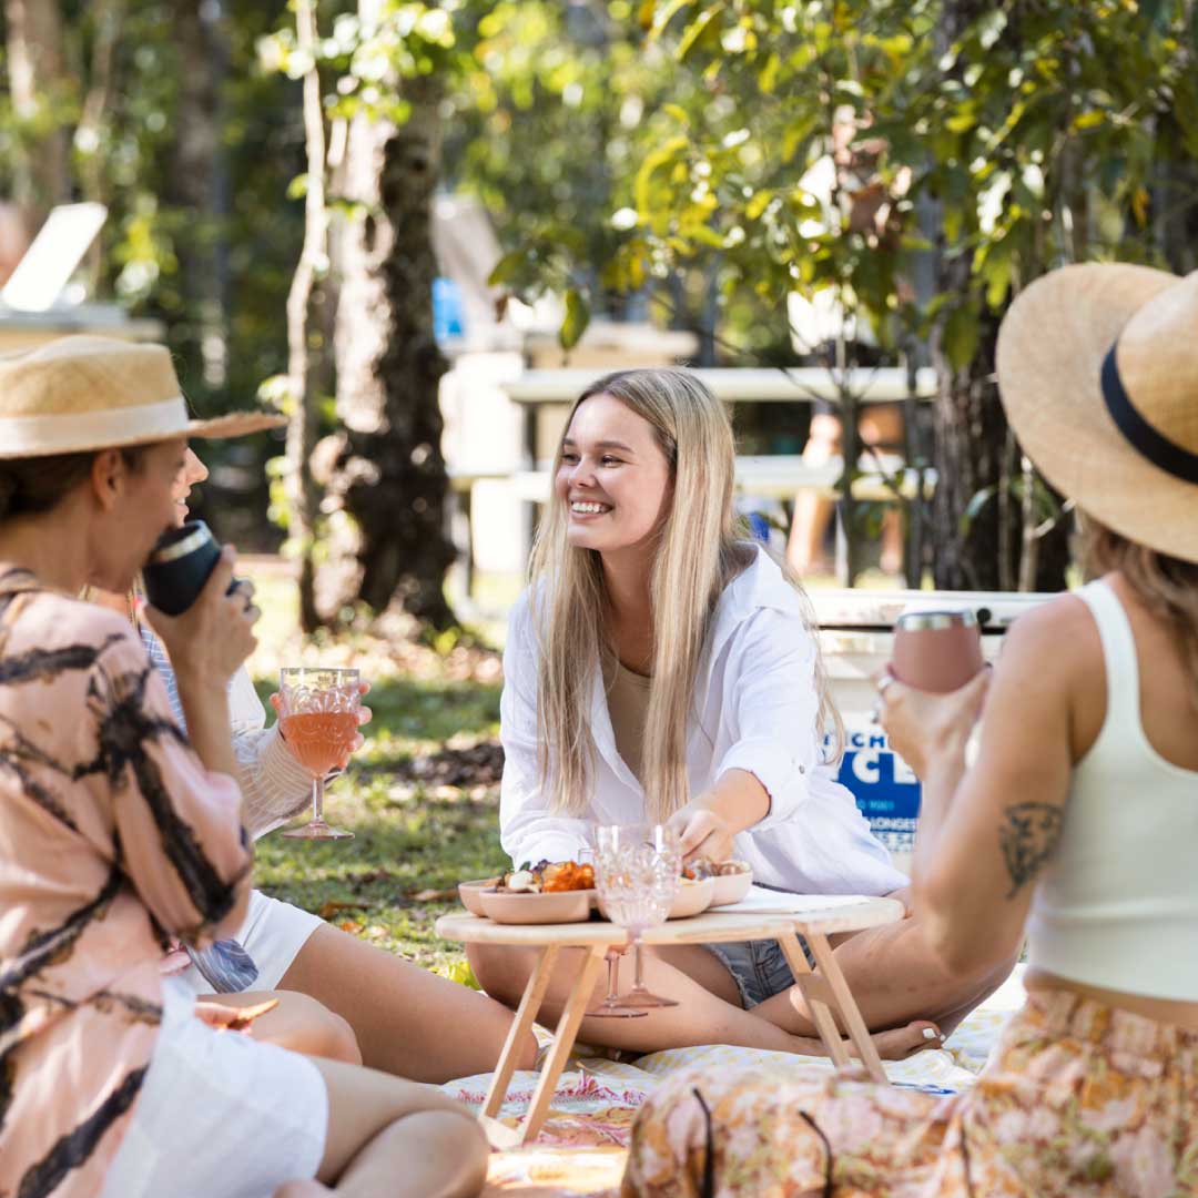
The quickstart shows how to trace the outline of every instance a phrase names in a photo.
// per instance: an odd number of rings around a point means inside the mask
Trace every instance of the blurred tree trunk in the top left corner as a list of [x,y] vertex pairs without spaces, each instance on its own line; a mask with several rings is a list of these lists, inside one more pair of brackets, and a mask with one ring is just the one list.
[[5,22],[12,109],[25,126],[23,152],[13,169],[13,199],[32,232],[55,204],[71,198],[67,132],[47,120],[47,111],[67,90],[62,22],[58,0],[5,0]]

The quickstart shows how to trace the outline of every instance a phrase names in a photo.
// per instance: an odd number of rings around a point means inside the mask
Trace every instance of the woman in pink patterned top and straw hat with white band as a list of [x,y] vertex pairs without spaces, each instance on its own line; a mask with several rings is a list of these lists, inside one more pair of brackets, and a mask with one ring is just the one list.
[[[226,593],[151,618],[187,738],[126,592],[174,522],[189,436],[159,346],[66,338],[0,361],[0,1193],[55,1198],[467,1194],[485,1144],[438,1091],[217,1031],[164,990],[163,939],[244,915],[250,851],[228,682],[258,611]],[[319,1178],[320,1180],[314,1180]]]

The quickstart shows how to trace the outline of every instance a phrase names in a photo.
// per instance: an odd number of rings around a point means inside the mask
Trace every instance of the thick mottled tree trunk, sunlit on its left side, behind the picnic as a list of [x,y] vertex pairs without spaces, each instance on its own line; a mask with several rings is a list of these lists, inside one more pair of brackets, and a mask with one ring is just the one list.
[[456,618],[443,592],[454,550],[444,534],[437,388],[448,365],[432,335],[435,81],[412,83],[405,99],[412,108],[403,126],[358,114],[350,127],[345,188],[362,208],[341,242],[343,431],[331,447],[326,506],[344,514],[331,521],[338,605],[361,601],[381,612],[399,598],[422,622],[446,628]]

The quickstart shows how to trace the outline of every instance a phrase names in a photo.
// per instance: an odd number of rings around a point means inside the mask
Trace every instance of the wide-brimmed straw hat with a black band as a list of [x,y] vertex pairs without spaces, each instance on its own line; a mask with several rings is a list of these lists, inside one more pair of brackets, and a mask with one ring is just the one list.
[[1198,562],[1198,272],[1043,276],[1003,320],[998,386],[1053,486],[1123,537]]

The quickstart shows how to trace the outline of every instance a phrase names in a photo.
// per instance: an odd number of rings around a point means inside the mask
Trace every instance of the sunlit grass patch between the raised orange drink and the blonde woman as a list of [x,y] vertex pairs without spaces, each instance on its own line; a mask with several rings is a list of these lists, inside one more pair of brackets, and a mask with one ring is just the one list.
[[[329,783],[326,811],[353,840],[285,840],[256,846],[255,883],[266,894],[321,914],[344,931],[458,980],[468,980],[459,944],[434,932],[438,915],[460,909],[455,887],[503,869],[497,786],[430,786],[411,763],[443,749],[498,736],[500,683],[494,654],[395,646],[364,637],[302,641],[295,629],[295,586],[268,561],[244,562],[264,617],[249,662],[259,695],[277,689],[278,667],[327,661],[357,665],[371,682],[374,719],[345,775]],[[479,676],[485,680],[480,680]],[[270,709],[268,709],[270,710]],[[273,719],[273,715],[272,715]]]

